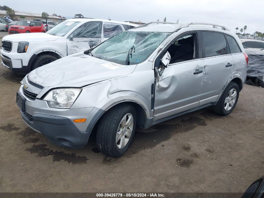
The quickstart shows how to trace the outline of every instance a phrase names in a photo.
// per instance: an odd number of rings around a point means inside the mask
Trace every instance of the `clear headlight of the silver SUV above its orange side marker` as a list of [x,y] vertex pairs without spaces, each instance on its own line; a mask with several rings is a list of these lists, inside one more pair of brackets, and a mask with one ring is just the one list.
[[43,100],[46,100],[51,108],[70,109],[81,90],[79,88],[53,89]]

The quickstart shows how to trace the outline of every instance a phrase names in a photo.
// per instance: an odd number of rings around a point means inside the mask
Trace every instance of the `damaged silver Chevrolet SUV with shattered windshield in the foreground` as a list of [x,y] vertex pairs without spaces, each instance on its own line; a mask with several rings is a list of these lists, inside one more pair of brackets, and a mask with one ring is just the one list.
[[208,23],[147,23],[30,72],[17,92],[22,119],[52,143],[121,156],[136,127],[212,106],[235,108],[248,57],[237,35]]

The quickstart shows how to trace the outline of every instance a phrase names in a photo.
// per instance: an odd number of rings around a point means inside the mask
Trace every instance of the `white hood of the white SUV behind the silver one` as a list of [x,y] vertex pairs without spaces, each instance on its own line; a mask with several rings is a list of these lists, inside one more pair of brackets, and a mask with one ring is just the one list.
[[21,34],[10,34],[4,36],[2,40],[12,42],[36,42],[36,41],[55,41],[59,36],[53,36],[47,33],[21,33]]

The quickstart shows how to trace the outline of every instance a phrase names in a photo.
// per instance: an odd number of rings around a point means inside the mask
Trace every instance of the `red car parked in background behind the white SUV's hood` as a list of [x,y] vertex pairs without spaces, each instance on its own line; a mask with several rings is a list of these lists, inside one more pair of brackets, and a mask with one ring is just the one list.
[[19,21],[16,25],[8,28],[8,34],[43,32],[46,30],[42,22],[39,21]]

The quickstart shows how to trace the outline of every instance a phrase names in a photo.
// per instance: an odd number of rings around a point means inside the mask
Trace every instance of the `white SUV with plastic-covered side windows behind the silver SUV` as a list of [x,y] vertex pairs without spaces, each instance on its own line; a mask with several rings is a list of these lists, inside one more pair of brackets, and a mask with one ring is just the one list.
[[111,20],[73,18],[54,26],[47,33],[7,35],[2,38],[2,64],[16,73],[27,74],[136,26]]

